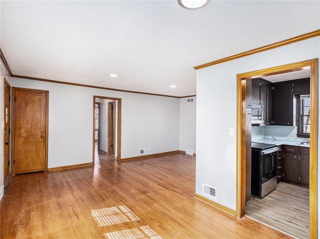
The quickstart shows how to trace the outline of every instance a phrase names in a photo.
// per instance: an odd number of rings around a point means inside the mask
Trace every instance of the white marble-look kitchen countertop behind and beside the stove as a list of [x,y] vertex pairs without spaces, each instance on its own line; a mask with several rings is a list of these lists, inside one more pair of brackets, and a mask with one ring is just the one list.
[[[310,147],[310,139],[296,138],[296,137],[282,137],[282,136],[254,136],[251,139],[252,143],[291,145],[299,147]],[[302,144],[301,144],[302,143]]]

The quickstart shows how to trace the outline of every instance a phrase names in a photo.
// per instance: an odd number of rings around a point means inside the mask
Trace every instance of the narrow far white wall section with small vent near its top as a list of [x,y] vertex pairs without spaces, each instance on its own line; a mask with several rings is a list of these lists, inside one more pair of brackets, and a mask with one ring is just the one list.
[[196,97],[194,103],[186,103],[187,98],[180,99],[180,128],[179,128],[179,150],[193,150],[195,153],[195,113]]

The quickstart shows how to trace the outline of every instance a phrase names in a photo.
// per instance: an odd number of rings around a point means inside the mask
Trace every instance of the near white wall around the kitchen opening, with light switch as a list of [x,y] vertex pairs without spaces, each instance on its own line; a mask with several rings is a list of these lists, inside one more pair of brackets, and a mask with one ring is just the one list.
[[[315,37],[197,70],[197,194],[206,197],[202,183],[217,187],[217,199],[207,198],[235,210],[236,136],[229,128],[236,127],[236,75],[319,57],[320,37]],[[318,179],[320,185],[320,174]]]

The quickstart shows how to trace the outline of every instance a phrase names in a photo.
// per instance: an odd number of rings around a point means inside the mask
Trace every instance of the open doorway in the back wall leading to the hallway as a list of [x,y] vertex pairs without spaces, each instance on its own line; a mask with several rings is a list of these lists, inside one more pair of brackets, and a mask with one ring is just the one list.
[[[121,160],[121,99],[105,96],[93,96],[94,103],[94,140],[93,164],[95,163],[95,147],[97,153],[111,155]],[[96,110],[96,104],[99,110]],[[98,113],[98,115],[97,115]],[[96,139],[95,129],[98,127]],[[97,145],[95,145],[97,143]]]

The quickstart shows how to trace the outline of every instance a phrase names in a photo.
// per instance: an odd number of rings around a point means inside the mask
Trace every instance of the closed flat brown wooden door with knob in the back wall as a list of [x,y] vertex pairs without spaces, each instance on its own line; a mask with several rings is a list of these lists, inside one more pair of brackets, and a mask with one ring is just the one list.
[[46,170],[48,91],[13,88],[14,174]]

